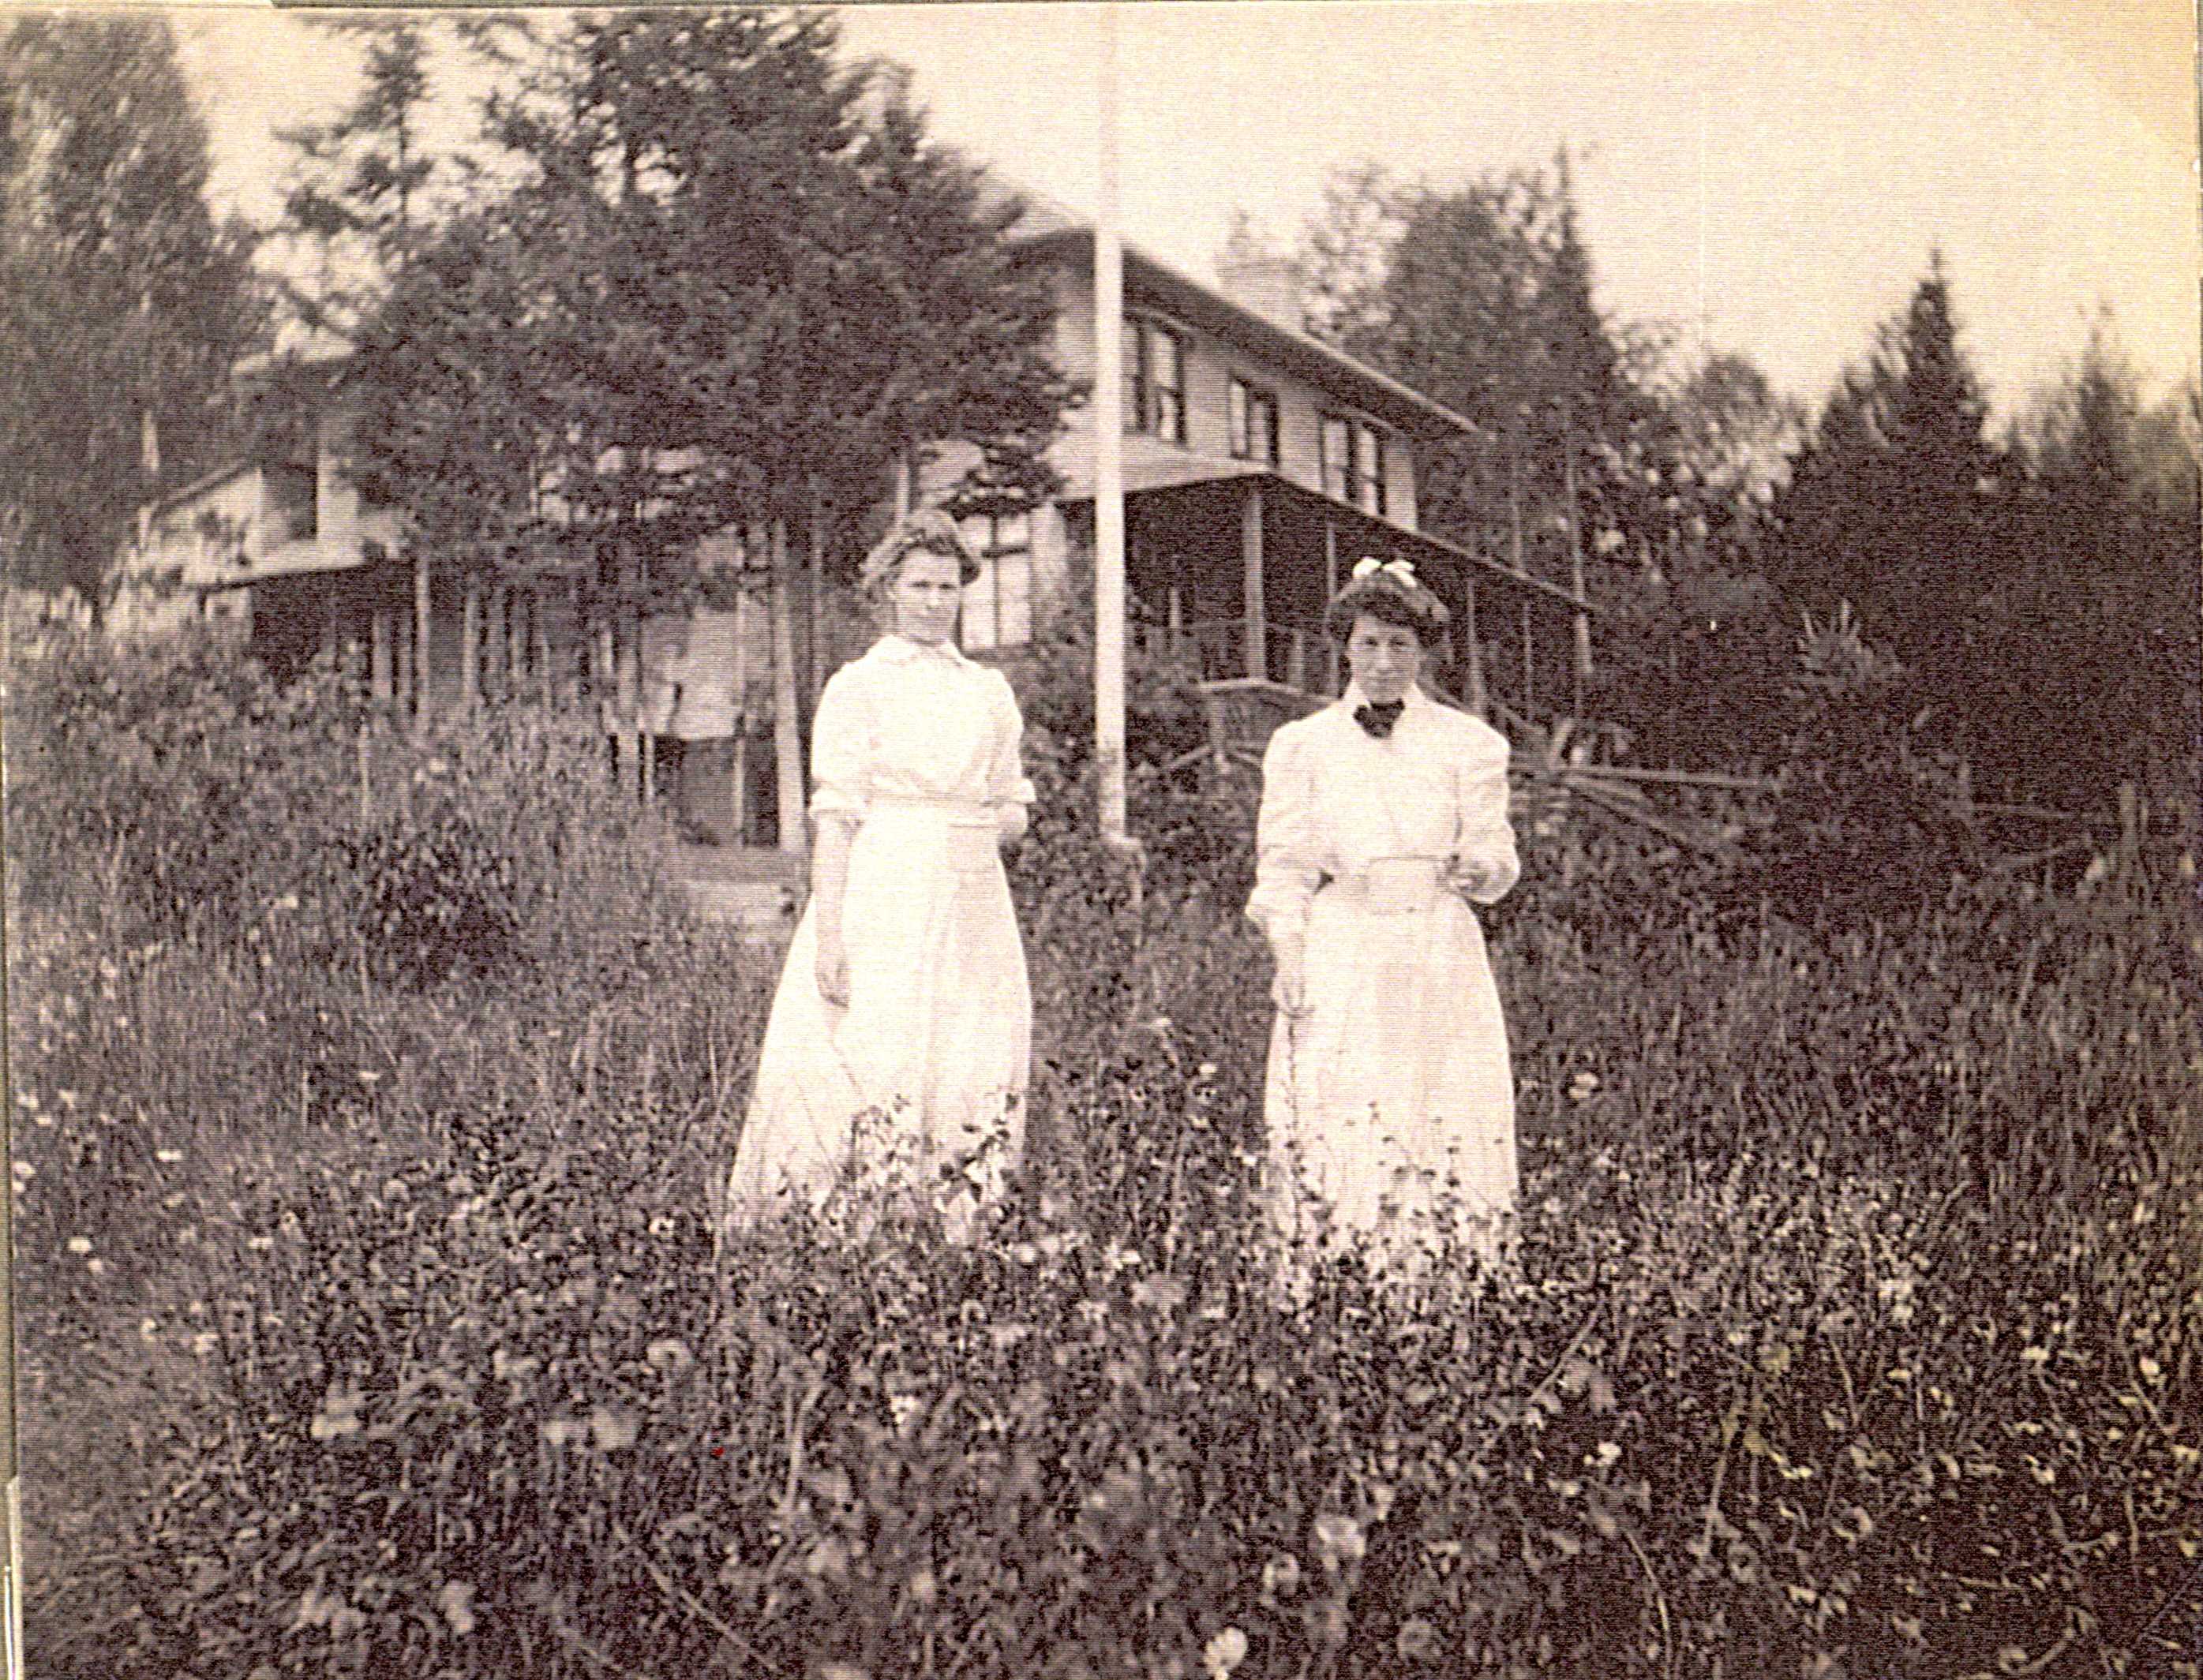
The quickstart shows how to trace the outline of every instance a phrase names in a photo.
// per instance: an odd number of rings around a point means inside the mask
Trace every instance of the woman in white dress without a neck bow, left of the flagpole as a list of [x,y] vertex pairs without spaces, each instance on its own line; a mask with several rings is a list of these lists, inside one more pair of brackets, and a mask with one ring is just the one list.
[[892,625],[826,683],[811,724],[811,903],[795,927],[727,1185],[729,1224],[842,1187],[901,1189],[952,1235],[1024,1141],[1033,1004],[1000,848],[1033,784],[998,669],[952,634],[978,564],[941,513],[872,550]]

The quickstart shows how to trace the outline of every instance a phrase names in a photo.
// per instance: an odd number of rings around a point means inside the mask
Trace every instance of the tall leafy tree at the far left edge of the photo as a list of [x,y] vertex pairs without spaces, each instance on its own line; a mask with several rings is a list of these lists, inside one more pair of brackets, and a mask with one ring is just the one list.
[[0,542],[95,619],[137,509],[218,447],[264,319],[251,236],[205,200],[207,134],[159,18],[0,35]]

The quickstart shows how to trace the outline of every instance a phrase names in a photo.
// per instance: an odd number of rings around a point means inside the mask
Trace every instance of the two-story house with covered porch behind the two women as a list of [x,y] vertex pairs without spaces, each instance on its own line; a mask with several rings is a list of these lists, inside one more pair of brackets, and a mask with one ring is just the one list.
[[[1055,354],[1095,372],[1093,227],[1033,194],[1013,231],[1053,275]],[[1124,253],[1126,586],[1135,645],[1168,645],[1223,685],[1335,691],[1324,601],[1361,555],[1410,559],[1454,608],[1441,683],[1476,711],[1566,711],[1569,590],[1417,528],[1417,469],[1467,421],[1306,337],[1284,264],[1205,286],[1139,249]],[[681,619],[586,625],[577,579],[544,572],[493,592],[408,553],[394,509],[361,506],[344,473],[344,361],[306,357],[256,372],[306,421],[297,458],[240,462],[148,509],[126,575],[139,606],[121,623],[196,610],[249,621],[278,669],[319,647],[357,650],[375,691],[425,718],[480,696],[599,707],[648,784],[683,746],[681,806],[716,839],[764,843],[778,823],[771,768],[771,636],[764,606],[736,599]],[[963,469],[919,454],[901,495],[927,500]],[[1053,445],[1062,493],[1029,513],[967,526],[983,575],[961,639],[1013,658],[1064,606],[1090,599],[1095,469],[1084,414]],[[883,487],[883,500],[888,491]],[[720,561],[731,537],[716,539]],[[712,559],[712,555],[707,555]],[[121,610],[121,601],[119,601]],[[795,601],[797,691],[870,639],[833,590]],[[1555,705],[1560,700],[1560,705]]]

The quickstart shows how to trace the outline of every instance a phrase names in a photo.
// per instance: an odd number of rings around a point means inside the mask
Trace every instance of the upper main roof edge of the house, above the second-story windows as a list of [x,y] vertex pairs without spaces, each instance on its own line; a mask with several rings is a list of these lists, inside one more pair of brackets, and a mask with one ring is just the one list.
[[[1013,244],[1022,244],[1029,251],[1066,255],[1082,264],[1086,273],[1093,273],[1093,220],[1042,192],[1011,181],[998,178],[994,196],[996,200],[1018,198],[1024,205],[1024,216],[1009,229]],[[1128,291],[1146,291],[1190,326],[1203,326],[1218,337],[1260,350],[1291,372],[1298,372],[1311,385],[1342,394],[1350,392],[1357,407],[1368,410],[1381,421],[1390,421],[1401,432],[1456,436],[1476,429],[1472,421],[1423,396],[1412,385],[1377,372],[1366,361],[1357,361],[1322,339],[1311,339],[1306,332],[1273,321],[1269,315],[1172,269],[1161,258],[1130,242],[1124,247],[1124,275]]]

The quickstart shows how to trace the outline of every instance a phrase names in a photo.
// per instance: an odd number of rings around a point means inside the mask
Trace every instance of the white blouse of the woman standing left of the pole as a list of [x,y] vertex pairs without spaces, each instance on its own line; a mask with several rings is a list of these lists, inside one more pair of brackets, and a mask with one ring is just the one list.
[[881,804],[1029,806],[1018,749],[1024,718],[991,665],[949,643],[881,636],[820,694],[811,720],[811,815],[864,817]]

